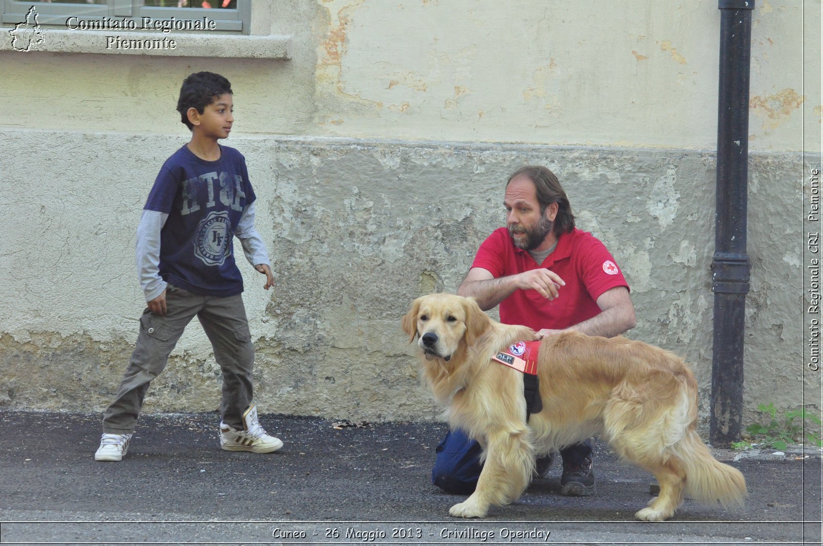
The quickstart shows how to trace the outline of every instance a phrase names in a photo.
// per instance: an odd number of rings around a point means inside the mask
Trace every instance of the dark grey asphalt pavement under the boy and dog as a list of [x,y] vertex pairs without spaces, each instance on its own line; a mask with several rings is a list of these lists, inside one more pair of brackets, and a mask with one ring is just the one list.
[[467,521],[430,484],[444,423],[260,421],[281,451],[222,451],[216,413],[143,415],[128,456],[102,463],[100,414],[0,410],[0,544],[821,544],[817,448],[713,450],[746,476],[746,507],[687,500],[648,523],[633,514],[651,475],[596,441],[592,497],[561,496],[556,464]]

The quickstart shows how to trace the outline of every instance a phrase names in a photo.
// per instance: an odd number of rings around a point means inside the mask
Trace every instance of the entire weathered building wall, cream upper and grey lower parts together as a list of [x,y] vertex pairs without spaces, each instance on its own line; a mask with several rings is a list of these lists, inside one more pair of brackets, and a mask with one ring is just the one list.
[[[456,289],[503,222],[504,179],[541,163],[623,267],[630,337],[693,363],[705,416],[717,2],[253,10],[253,34],[291,36],[289,60],[0,50],[0,405],[100,410],[114,396],[142,311],[140,210],[187,137],[180,81],[211,70],[235,90],[226,143],[249,162],[277,275],[272,294],[244,268],[261,410],[435,418],[399,317],[416,295]],[[753,17],[750,417],[761,402],[820,400],[802,359],[802,187],[820,164],[823,104],[804,81],[821,78],[820,12],[820,0],[762,0]],[[212,410],[219,390],[193,324],[146,410]]]

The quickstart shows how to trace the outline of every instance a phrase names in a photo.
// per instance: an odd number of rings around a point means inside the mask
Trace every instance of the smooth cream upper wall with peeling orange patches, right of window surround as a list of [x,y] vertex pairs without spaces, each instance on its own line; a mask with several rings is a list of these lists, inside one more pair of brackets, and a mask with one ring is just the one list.
[[[318,49],[328,134],[714,149],[715,0],[328,0]],[[752,18],[751,145],[802,147],[804,21],[820,2],[760,0]],[[325,15],[325,14],[324,14]],[[819,25],[818,25],[819,26]],[[325,30],[324,30],[325,31]],[[820,58],[809,40],[808,58]],[[778,60],[779,59],[779,60]],[[817,63],[819,65],[819,63]],[[812,101],[810,108],[819,106]],[[818,117],[820,112],[817,113]],[[816,126],[807,127],[814,138]]]

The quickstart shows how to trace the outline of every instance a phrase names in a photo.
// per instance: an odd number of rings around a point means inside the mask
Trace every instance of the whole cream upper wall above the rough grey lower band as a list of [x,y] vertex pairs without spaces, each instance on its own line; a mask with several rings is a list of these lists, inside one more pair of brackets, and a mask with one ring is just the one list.
[[[821,2],[756,4],[751,149],[809,149]],[[208,69],[234,86],[234,134],[714,150],[717,6],[255,0],[253,33],[291,36],[291,60],[0,51],[0,123],[179,135],[180,81]]]

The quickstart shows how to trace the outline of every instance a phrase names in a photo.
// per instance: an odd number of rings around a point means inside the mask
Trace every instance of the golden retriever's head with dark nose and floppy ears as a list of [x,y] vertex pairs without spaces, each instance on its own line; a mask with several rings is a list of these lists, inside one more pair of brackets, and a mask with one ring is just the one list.
[[418,335],[417,346],[426,359],[448,362],[458,349],[473,345],[491,325],[491,319],[474,298],[454,294],[428,294],[412,302],[402,318],[403,331],[411,343]]

